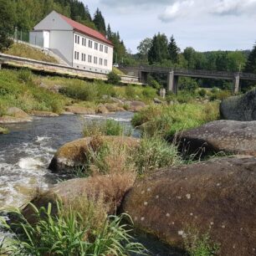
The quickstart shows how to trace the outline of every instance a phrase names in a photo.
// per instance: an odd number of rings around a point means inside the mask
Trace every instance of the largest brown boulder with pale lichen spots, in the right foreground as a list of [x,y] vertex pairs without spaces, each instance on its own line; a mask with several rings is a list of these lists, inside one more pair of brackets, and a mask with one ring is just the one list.
[[187,230],[209,233],[220,255],[256,255],[256,158],[169,167],[138,180],[122,205],[137,228],[182,247]]

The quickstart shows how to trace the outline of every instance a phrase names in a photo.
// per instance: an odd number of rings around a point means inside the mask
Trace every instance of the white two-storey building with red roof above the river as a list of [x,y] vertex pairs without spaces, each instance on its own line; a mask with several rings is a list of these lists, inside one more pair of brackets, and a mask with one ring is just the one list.
[[110,40],[55,11],[33,28],[29,41],[50,49],[74,68],[99,73],[112,70],[113,44]]

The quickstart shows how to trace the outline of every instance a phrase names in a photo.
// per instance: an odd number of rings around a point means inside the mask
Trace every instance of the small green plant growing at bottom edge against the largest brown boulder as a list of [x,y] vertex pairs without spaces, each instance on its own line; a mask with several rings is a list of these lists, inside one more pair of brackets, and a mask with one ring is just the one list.
[[190,256],[213,256],[219,251],[218,243],[212,243],[208,233],[200,236],[198,231],[189,230],[184,237],[184,243]]

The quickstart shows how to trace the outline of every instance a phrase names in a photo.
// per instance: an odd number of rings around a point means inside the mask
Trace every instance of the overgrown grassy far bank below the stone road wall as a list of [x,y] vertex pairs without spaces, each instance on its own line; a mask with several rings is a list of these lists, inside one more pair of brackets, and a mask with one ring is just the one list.
[[25,112],[44,110],[60,113],[66,105],[95,108],[110,102],[111,97],[151,102],[156,90],[141,86],[114,86],[64,77],[32,74],[28,69],[0,70],[0,116],[8,107],[16,106]]

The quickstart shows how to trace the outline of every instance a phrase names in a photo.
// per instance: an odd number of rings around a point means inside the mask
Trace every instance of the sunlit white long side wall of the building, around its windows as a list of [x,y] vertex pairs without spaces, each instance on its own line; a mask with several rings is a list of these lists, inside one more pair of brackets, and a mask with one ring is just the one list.
[[[79,35],[79,44],[75,43],[75,35]],[[86,46],[82,45],[82,38],[86,38]],[[89,48],[89,40],[93,42],[92,48]],[[98,43],[98,49],[95,49],[95,42]],[[100,44],[103,45],[103,52],[100,51]],[[105,53],[105,46],[108,47],[108,53]],[[74,68],[85,69],[100,73],[109,73],[112,70],[113,64],[113,47],[109,44],[100,42],[95,38],[90,38],[82,33],[74,33],[74,51],[79,52],[79,60],[74,59],[73,54],[73,66]],[[82,61],[82,54],[86,55],[85,62]],[[88,62],[88,55],[92,56],[92,62]],[[94,57],[97,57],[97,64],[94,64]],[[100,65],[100,58],[103,59],[103,64]],[[107,66],[104,64],[104,60],[107,59]]]

